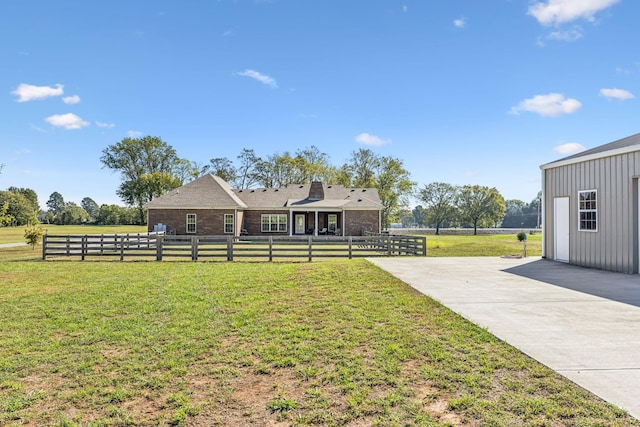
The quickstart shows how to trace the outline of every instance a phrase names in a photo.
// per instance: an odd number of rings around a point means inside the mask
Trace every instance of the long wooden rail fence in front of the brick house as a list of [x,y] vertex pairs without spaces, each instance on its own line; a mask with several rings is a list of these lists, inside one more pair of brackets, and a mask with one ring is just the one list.
[[417,236],[175,236],[163,233],[45,235],[42,259],[112,257],[274,261],[303,258],[425,256],[425,237]]

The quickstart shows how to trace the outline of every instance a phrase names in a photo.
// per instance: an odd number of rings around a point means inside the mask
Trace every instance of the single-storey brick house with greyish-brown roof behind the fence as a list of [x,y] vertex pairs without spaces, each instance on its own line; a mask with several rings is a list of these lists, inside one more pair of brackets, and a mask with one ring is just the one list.
[[344,235],[380,232],[382,203],[375,188],[321,182],[284,188],[233,189],[207,174],[147,205],[148,230],[170,234]]

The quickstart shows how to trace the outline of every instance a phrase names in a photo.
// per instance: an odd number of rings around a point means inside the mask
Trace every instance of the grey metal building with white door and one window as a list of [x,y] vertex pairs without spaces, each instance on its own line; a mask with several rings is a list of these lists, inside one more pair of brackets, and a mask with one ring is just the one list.
[[540,169],[542,256],[637,274],[640,134]]

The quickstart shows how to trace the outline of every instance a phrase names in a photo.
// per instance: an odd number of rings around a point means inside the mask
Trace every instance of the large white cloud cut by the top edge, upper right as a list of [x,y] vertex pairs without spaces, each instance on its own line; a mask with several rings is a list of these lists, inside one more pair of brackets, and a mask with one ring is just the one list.
[[557,25],[576,19],[594,21],[594,15],[619,0],[546,0],[529,6],[528,14],[542,25]]

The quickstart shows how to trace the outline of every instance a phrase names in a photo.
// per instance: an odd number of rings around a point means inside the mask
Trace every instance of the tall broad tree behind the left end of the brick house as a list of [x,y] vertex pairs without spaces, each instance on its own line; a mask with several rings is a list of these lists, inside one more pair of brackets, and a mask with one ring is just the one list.
[[179,161],[176,151],[158,137],[124,138],[102,150],[100,161],[104,167],[120,172],[122,184],[116,193],[125,203],[137,207],[142,224],[144,205],[180,186],[173,175]]

